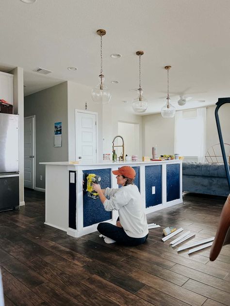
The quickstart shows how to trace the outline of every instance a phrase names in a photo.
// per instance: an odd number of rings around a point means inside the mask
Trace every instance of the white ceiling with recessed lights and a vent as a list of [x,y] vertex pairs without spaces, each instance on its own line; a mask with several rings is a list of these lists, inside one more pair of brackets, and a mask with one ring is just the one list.
[[[100,72],[100,39],[105,29],[103,67],[111,103],[131,110],[139,84],[137,50],[142,56],[142,88],[159,112],[166,97],[171,65],[172,103],[179,94],[212,105],[230,96],[229,0],[0,0],[0,69],[24,68],[25,95],[71,80],[93,88]],[[120,59],[110,57],[120,53]],[[68,71],[68,66],[78,67]],[[48,76],[33,70],[52,71]],[[119,84],[111,84],[118,80]]]

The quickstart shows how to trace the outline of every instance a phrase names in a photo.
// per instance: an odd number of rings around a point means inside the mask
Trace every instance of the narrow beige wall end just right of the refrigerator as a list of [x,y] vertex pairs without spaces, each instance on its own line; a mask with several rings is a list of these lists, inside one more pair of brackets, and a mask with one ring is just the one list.
[[24,94],[23,94],[23,68],[16,67],[11,74],[14,75],[14,114],[19,114],[19,202],[24,202]]

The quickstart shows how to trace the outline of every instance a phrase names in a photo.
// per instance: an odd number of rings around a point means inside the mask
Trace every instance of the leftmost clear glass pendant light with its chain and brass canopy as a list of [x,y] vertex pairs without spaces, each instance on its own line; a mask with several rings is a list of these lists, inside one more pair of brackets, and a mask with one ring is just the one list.
[[92,99],[98,104],[107,104],[111,99],[111,93],[108,87],[104,84],[104,76],[102,71],[102,36],[106,34],[105,30],[98,30],[97,34],[100,36],[100,75],[99,84],[92,89]]

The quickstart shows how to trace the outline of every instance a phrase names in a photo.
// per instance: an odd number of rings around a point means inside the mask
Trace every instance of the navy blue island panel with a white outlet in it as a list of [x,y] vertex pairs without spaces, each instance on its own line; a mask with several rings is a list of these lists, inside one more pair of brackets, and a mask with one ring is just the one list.
[[[162,166],[146,166],[146,208],[162,203]],[[152,187],[155,186],[155,194],[152,194]]]

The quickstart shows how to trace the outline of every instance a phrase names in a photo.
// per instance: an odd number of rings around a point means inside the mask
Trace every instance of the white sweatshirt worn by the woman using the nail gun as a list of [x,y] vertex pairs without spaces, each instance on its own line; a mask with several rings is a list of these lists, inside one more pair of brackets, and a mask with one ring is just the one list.
[[143,209],[143,200],[136,185],[129,184],[119,189],[105,189],[104,208],[110,212],[117,210],[120,224],[132,238],[143,238],[148,234],[148,224]]

